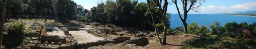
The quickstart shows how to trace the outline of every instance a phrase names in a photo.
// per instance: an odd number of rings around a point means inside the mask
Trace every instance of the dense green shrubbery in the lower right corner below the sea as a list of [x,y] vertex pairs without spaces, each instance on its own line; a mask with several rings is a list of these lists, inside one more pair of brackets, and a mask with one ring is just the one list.
[[[208,29],[206,27],[201,26],[201,29],[197,29],[199,31],[198,33],[206,33],[205,36],[201,36],[200,39],[188,40],[185,47],[255,48],[256,46],[254,44],[256,44],[256,38],[253,36],[256,35],[255,32],[253,32],[256,30],[255,23],[256,22],[247,24],[246,22],[242,22],[238,24],[237,22],[229,22],[226,23],[224,27],[221,27],[219,22],[214,22],[213,24],[210,24],[210,32],[207,31]],[[188,32],[192,32],[191,34],[201,35],[197,32],[194,32],[194,29],[196,29],[196,23],[189,24],[188,29]]]

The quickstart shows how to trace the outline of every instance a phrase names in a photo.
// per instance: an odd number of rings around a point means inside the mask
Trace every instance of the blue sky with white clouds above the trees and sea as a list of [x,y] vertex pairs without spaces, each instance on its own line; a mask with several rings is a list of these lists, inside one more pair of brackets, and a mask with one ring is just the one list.
[[[105,2],[105,0],[73,0],[78,5],[90,10],[97,3]],[[138,0],[139,2],[146,2],[146,0]],[[168,0],[169,2],[171,0]],[[180,1],[180,0],[178,0]],[[205,0],[199,8],[198,12],[190,11],[189,14],[214,14],[214,13],[230,13],[256,10],[256,0]],[[179,4],[181,7],[181,4]],[[180,8],[181,9],[181,8]],[[182,11],[182,10],[181,10]],[[167,12],[176,14],[175,5],[169,5]]]

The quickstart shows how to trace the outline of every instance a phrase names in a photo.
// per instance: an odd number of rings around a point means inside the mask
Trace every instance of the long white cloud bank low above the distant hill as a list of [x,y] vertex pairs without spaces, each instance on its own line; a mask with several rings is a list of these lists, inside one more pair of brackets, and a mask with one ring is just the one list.
[[247,2],[244,4],[230,5],[230,6],[215,6],[209,5],[207,7],[200,7],[201,13],[230,13],[256,10],[256,2]]

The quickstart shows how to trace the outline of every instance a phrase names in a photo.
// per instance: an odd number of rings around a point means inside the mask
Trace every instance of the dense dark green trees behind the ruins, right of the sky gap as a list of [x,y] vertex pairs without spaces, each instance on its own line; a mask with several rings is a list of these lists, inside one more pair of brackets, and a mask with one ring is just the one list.
[[[155,19],[162,19],[161,13],[152,5],[152,13]],[[169,16],[166,16],[169,18]],[[137,0],[106,0],[97,7],[91,8],[90,16],[92,22],[113,23],[119,27],[136,27],[140,29],[152,30],[152,17],[147,10],[146,3],[138,3]],[[169,21],[166,18],[167,21]],[[156,20],[161,23],[161,20]],[[167,23],[166,26],[169,26]],[[169,27],[168,27],[169,28]]]

